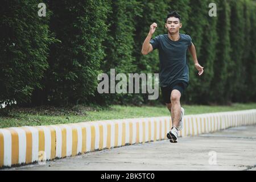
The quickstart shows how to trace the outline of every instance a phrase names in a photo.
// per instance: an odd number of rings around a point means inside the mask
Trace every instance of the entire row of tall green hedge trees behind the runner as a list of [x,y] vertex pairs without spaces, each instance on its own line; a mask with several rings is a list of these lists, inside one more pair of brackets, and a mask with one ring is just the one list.
[[[45,3],[46,16],[38,15]],[[216,3],[217,16],[208,7]],[[159,73],[158,51],[141,47],[150,24],[167,34],[164,19],[176,10],[181,33],[196,46],[204,74],[189,53],[184,104],[256,101],[256,2],[250,0],[3,0],[0,6],[0,107],[158,105],[147,94],[98,94],[97,76]]]

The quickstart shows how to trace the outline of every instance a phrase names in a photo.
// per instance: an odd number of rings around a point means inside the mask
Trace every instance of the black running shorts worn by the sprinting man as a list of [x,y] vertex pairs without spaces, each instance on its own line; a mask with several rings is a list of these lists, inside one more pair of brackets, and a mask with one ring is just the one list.
[[182,95],[184,90],[187,87],[188,87],[188,83],[187,82],[183,82],[183,81],[175,82],[171,86],[166,86],[166,87],[162,87],[161,86],[162,96],[163,96],[164,103],[166,103],[166,104],[170,104],[171,103],[171,93],[172,93],[172,90],[179,90],[180,94]]

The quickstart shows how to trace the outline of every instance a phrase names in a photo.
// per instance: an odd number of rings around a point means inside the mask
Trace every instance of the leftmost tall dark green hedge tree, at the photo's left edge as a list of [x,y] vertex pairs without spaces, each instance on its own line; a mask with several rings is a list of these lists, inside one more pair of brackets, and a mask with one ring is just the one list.
[[[48,68],[49,15],[38,16],[40,1],[2,1],[0,6],[0,102],[30,101],[42,88],[40,78]],[[1,106],[1,105],[0,105]]]

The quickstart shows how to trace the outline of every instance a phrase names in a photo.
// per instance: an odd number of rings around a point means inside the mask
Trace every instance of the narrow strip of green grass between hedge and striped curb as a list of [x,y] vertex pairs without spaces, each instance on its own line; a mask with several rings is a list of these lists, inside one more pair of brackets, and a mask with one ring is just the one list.
[[[185,115],[215,113],[256,109],[256,103],[232,104],[230,106],[182,105]],[[0,128],[19,126],[58,125],[98,121],[106,119],[160,117],[170,115],[164,105],[159,106],[120,106],[113,105],[106,109],[101,107],[74,106],[71,108],[34,107],[19,108],[11,111],[8,117],[0,117]]]

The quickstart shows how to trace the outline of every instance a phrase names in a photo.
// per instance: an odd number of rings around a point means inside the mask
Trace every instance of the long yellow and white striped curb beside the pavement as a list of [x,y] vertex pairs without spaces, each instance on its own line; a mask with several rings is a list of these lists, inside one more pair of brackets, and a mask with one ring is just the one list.
[[[256,109],[184,116],[179,137],[256,124]],[[0,168],[167,139],[171,117],[0,129]]]

